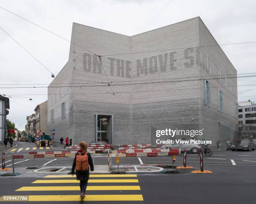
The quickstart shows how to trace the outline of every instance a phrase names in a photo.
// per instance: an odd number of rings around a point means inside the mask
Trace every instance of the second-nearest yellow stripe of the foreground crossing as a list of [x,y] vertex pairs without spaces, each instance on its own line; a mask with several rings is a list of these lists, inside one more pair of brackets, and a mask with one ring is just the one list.
[[[87,191],[141,190],[140,186],[87,186]],[[32,186],[21,187],[16,191],[80,191],[79,186]]]

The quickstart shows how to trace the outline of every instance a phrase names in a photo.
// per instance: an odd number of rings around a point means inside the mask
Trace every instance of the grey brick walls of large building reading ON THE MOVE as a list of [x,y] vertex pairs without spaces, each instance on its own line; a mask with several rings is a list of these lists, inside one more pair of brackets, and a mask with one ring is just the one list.
[[237,72],[200,17],[131,37],[74,23],[71,41],[69,61],[48,88],[55,141],[95,141],[95,114],[113,115],[114,145],[151,143],[151,128],[191,123],[204,129],[199,139],[233,139]]

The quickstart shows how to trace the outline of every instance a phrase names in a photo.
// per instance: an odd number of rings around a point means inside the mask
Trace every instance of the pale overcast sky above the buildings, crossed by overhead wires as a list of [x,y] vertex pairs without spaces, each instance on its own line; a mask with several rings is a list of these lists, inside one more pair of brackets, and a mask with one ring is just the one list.
[[[72,22],[131,36],[200,16],[219,44],[256,41],[255,0],[169,2],[170,0],[9,0],[1,1],[0,6],[69,40]],[[0,19],[0,27],[26,47],[51,72],[55,75],[59,73],[68,60],[69,42],[2,9]],[[221,47],[238,74],[256,72],[256,43]],[[256,101],[256,86],[241,86],[256,84],[255,79],[256,77],[238,78],[238,101]],[[0,87],[12,87],[3,84],[49,84],[52,80],[49,71],[0,30]],[[250,90],[253,88],[255,89]],[[47,100],[47,88],[0,88],[0,94],[28,94],[10,98],[8,119],[15,122],[20,130],[25,129],[26,116],[34,112],[37,104]],[[28,100],[30,97],[32,101]]]

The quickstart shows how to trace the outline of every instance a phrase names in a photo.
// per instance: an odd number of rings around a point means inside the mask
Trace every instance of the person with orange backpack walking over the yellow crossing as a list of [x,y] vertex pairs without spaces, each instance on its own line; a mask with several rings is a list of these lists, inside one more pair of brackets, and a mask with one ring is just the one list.
[[77,180],[80,180],[81,199],[85,197],[85,191],[89,179],[89,165],[91,172],[94,171],[91,154],[87,151],[87,144],[84,141],[79,143],[80,149],[75,155],[71,174],[74,176],[76,169]]

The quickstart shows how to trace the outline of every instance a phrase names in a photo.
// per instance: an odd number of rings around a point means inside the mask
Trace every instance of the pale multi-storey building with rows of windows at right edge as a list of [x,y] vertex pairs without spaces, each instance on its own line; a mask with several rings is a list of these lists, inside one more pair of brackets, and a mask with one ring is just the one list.
[[240,138],[256,139],[256,104],[253,101],[238,103],[238,120]]

